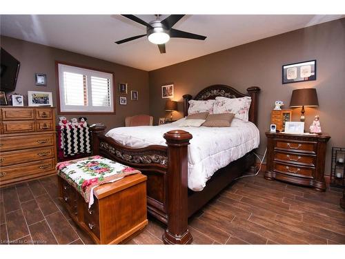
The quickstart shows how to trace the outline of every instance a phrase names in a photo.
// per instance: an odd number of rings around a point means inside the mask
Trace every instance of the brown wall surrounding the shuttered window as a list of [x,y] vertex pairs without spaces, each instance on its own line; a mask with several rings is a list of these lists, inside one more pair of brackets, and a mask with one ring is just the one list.
[[[55,60],[58,60],[115,73],[116,115],[86,115],[89,124],[101,122],[106,124],[108,128],[114,128],[116,126],[124,126],[126,116],[141,113],[148,114],[147,71],[10,37],[1,36],[0,39],[1,47],[21,62],[17,87],[14,90],[15,93],[27,96],[28,90],[52,92],[53,104],[57,105]],[[46,74],[47,86],[35,86],[34,73]],[[119,82],[128,83],[127,105],[119,105]],[[130,100],[130,90],[139,90],[139,101]],[[79,115],[82,114],[64,116],[70,119],[72,117],[79,117]]]

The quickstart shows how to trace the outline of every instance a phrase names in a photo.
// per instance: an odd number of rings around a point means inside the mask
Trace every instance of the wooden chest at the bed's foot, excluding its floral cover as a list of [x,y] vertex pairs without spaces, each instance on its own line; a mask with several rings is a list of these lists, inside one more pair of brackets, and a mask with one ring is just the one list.
[[88,203],[59,177],[59,197],[81,229],[97,244],[118,244],[147,224],[146,175],[128,175],[94,190],[95,202]]

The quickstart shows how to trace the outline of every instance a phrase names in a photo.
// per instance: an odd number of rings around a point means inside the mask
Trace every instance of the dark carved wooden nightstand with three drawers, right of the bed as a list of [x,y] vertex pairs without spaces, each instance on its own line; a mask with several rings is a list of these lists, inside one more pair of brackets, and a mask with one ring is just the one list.
[[322,135],[296,135],[266,132],[267,180],[282,180],[325,191],[324,165],[326,144],[331,138]]

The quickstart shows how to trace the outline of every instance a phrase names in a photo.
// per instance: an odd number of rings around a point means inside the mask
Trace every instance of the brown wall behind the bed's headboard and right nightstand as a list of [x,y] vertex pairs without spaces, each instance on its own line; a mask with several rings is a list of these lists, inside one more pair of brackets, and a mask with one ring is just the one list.
[[[317,81],[282,85],[282,65],[317,59]],[[204,57],[152,70],[150,77],[150,114],[168,117],[164,111],[166,99],[161,99],[161,86],[175,85],[175,101],[182,95],[195,95],[212,84],[226,84],[246,93],[248,86],[259,86],[259,123],[261,144],[266,148],[265,131],[270,124],[270,111],[276,100],[288,108],[293,89],[316,88],[319,107],[306,108],[306,126],[316,114],[320,116],[322,131],[331,135],[328,142],[325,172],[331,169],[331,147],[345,146],[345,19],[322,23],[301,30],[237,46]],[[183,106],[179,103],[182,116]],[[300,108],[293,111],[293,120],[299,119]]]

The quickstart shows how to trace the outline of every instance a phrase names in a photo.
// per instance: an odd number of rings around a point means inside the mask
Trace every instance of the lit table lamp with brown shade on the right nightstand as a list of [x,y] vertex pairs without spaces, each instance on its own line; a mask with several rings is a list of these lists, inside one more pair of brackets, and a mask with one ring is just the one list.
[[303,88],[293,90],[293,94],[290,99],[290,107],[301,107],[301,118],[300,121],[304,122],[304,106],[316,107],[319,106],[317,101],[317,94],[315,88]]

